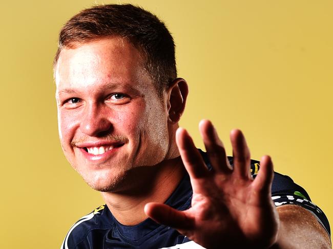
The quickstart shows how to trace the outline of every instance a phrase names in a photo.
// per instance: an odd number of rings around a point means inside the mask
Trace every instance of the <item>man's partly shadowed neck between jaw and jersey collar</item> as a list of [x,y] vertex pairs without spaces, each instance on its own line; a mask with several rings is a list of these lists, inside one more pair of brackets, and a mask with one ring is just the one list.
[[128,177],[131,180],[133,175],[136,179],[130,190],[102,192],[102,197],[121,224],[136,225],[147,219],[143,212],[144,205],[148,202],[165,202],[178,186],[184,172],[180,156],[155,166],[139,167]]

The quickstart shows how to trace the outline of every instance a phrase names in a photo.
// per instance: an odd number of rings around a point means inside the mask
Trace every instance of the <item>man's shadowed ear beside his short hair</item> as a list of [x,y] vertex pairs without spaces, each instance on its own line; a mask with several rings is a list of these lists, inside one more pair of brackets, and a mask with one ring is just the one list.
[[188,83],[182,78],[175,79],[168,89],[168,121],[178,123],[184,112],[186,98],[188,97]]

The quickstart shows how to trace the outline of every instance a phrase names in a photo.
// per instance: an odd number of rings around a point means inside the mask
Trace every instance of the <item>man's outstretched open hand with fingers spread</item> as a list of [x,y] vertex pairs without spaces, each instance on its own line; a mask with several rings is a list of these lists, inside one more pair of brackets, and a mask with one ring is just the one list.
[[279,216],[270,197],[270,157],[262,157],[259,173],[253,179],[249,171],[250,153],[240,130],[233,130],[230,136],[233,168],[212,123],[201,121],[199,130],[213,167],[210,171],[188,132],[183,128],[176,132],[176,143],[193,188],[192,207],[178,211],[150,202],[145,213],[208,249],[273,245]]

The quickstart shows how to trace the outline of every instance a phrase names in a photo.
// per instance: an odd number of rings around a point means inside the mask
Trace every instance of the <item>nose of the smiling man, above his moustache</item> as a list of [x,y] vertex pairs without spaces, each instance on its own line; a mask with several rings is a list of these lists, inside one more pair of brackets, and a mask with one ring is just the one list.
[[102,137],[111,131],[112,123],[108,119],[107,110],[97,103],[87,105],[82,115],[80,129],[90,137]]

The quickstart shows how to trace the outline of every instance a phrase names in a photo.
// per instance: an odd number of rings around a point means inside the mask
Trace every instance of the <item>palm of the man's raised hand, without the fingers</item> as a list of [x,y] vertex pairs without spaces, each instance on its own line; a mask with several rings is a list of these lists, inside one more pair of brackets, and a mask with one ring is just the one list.
[[192,208],[184,213],[195,220],[196,229],[180,231],[189,231],[189,238],[210,245],[207,248],[221,245],[219,241],[235,246],[258,243],[263,238],[269,240],[267,233],[274,234],[276,229],[272,226],[276,216],[269,195],[266,201],[260,199],[251,179],[234,175],[223,179],[224,176],[212,172],[204,180],[192,180]]

